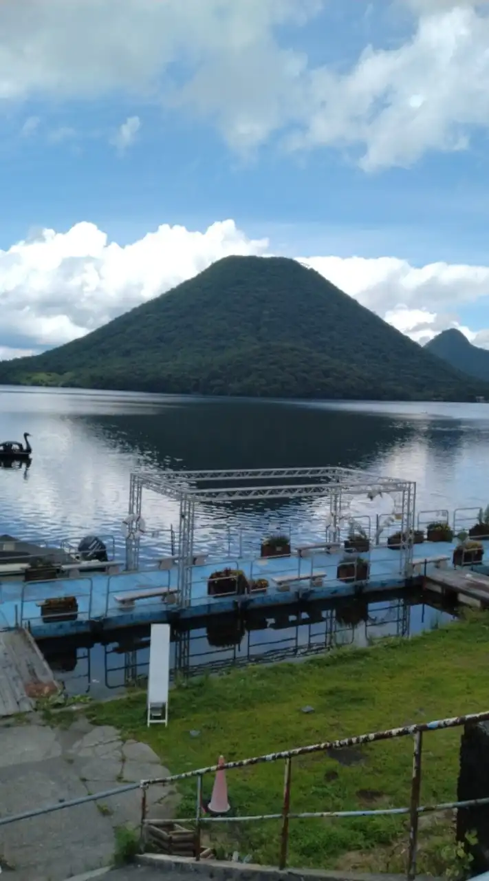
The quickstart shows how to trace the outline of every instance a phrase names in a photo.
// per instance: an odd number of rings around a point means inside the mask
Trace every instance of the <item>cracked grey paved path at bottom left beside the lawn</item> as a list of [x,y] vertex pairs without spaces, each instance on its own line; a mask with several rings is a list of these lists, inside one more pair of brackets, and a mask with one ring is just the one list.
[[[39,714],[30,714],[25,722],[1,724],[0,744],[2,817],[168,774],[149,746],[122,743],[116,729],[94,728],[85,718],[75,717],[69,729],[61,729],[43,724]],[[150,788],[148,806],[153,816],[171,818],[177,804],[174,788]],[[115,827],[137,826],[140,810],[136,789],[103,802],[0,826],[3,877],[65,881],[107,865],[115,851]]]

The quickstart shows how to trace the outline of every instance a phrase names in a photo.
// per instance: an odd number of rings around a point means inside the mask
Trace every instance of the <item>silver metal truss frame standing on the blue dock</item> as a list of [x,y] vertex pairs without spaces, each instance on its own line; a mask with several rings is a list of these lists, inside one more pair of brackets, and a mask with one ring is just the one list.
[[[251,485],[244,485],[245,481],[250,482]],[[129,515],[141,515],[144,489],[158,492],[180,504],[177,565],[178,594],[182,605],[190,603],[196,505],[204,503],[328,499],[332,536],[335,540],[340,535],[342,500],[345,496],[398,493],[402,500],[398,514],[399,529],[407,537],[407,540],[401,544],[399,552],[400,571],[406,575],[410,571],[416,484],[409,480],[370,475],[359,469],[334,467],[189,471],[166,469],[160,474],[133,473],[130,475]],[[139,545],[138,536],[130,535],[127,538],[128,569],[137,569]]]

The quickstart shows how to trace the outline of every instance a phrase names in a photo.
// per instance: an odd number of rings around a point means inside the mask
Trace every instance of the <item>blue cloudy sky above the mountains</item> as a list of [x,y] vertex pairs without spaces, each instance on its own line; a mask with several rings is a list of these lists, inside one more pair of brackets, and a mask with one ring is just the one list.
[[488,0],[2,0],[0,358],[230,254],[489,348],[488,46]]

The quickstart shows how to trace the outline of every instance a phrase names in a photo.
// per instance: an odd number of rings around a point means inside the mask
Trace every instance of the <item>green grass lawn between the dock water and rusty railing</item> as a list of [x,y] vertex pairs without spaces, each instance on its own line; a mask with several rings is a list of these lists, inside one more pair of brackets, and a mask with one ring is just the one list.
[[[235,670],[178,685],[168,729],[145,726],[145,693],[96,704],[87,714],[126,737],[151,744],[174,773],[269,751],[314,744],[489,709],[489,615],[472,616],[411,640],[380,640],[302,663]],[[314,707],[304,714],[301,708]],[[199,731],[192,737],[190,731]],[[424,737],[421,803],[456,798],[462,729]],[[339,759],[339,760],[338,760]],[[292,811],[341,811],[409,804],[412,738],[368,744],[337,759],[293,759]],[[281,810],[284,763],[227,773],[235,814]],[[210,796],[212,778],[204,778]],[[181,817],[195,814],[195,781],[182,785]],[[422,818],[419,871],[441,874],[450,862],[451,818]],[[290,866],[402,870],[406,819],[291,820]],[[214,825],[227,850],[278,863],[280,822]],[[445,848],[445,849],[444,849]],[[453,853],[452,853],[453,856]]]

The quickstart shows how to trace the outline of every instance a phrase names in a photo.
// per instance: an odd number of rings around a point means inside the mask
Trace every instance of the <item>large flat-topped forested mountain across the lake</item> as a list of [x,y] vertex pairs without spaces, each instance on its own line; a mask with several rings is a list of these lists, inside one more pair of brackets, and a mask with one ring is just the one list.
[[204,395],[489,397],[294,260],[226,257],[86,337],[0,362],[0,383]]

